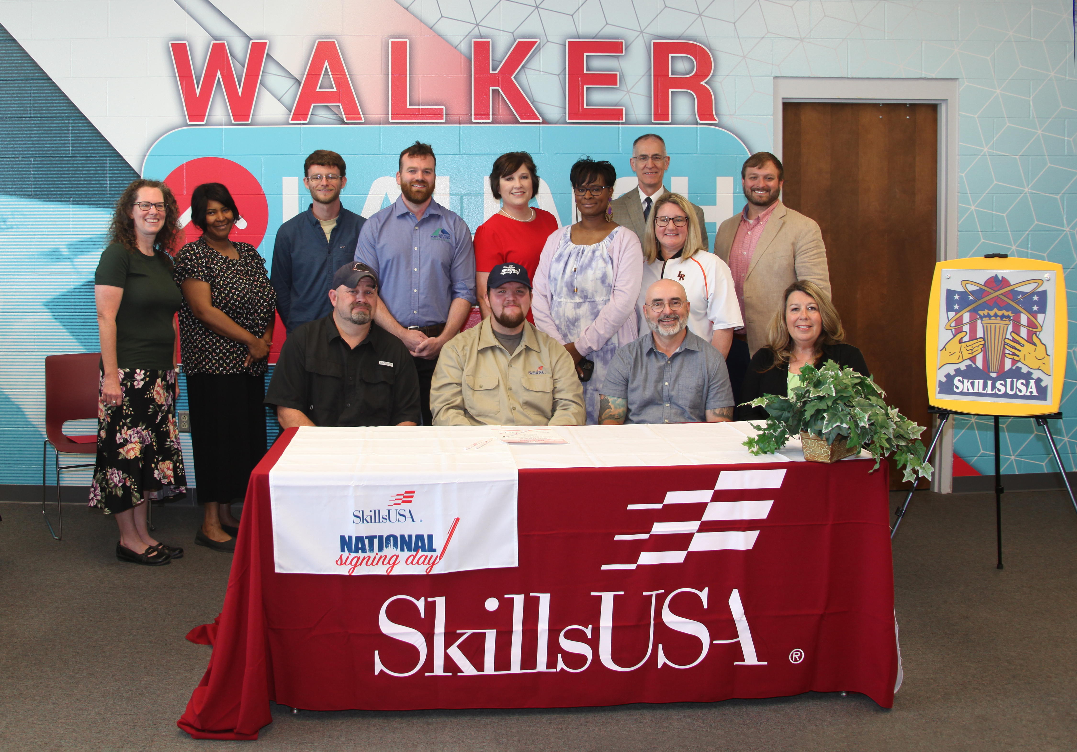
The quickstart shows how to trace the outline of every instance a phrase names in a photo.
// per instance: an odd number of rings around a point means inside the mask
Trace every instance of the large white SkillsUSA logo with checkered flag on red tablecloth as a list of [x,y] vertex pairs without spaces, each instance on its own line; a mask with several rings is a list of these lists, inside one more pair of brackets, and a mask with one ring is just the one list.
[[[501,612],[492,616],[484,615],[481,609],[468,611],[458,599],[449,596],[393,595],[381,604],[378,626],[384,638],[407,643],[418,653],[411,652],[411,661],[405,663],[398,655],[400,651],[390,648],[389,652],[394,654],[390,659],[386,649],[391,643],[383,640],[380,649],[374,650],[374,673],[409,677],[423,666],[429,667],[425,676],[544,671],[578,673],[591,667],[596,657],[598,664],[614,671],[635,671],[648,666],[687,669],[701,664],[713,645],[723,645],[725,659],[732,665],[766,666],[768,658],[757,652],[757,640],[753,637],[745,612],[741,594],[744,583],[740,583],[741,587],[723,587],[716,582],[713,588],[699,587],[698,584],[696,587],[684,586],[683,580],[696,579],[698,572],[683,565],[699,564],[694,557],[701,552],[736,551],[743,552],[739,555],[747,555],[760,530],[723,528],[755,526],[754,521],[766,520],[785,474],[785,470],[727,470],[718,476],[713,488],[671,491],[657,503],[627,505],[627,510],[632,512],[630,524],[638,524],[640,527],[637,530],[649,529],[612,536],[609,547],[603,547],[603,555],[607,551],[607,555],[618,562],[602,564],[598,569],[654,570],[654,574],[669,585],[642,593],[639,590],[632,592],[628,581],[637,581],[639,576],[626,572],[620,590],[589,593],[590,597],[584,602],[589,602],[590,607],[585,612],[573,612],[571,618],[578,621],[577,624],[560,628],[550,624],[551,608],[561,611],[564,616],[564,604],[556,599],[559,595],[569,595],[565,593],[530,593],[530,598],[523,593],[504,595],[512,606],[510,628],[507,630],[498,628],[499,623],[507,626],[509,622],[505,613],[509,609],[501,609],[501,600],[495,597],[501,593],[489,594],[485,600],[481,593],[468,598],[481,602],[488,612]],[[726,500],[730,496],[737,500]],[[759,498],[745,500],[744,496]],[[648,522],[644,519],[654,514],[648,510],[668,509],[676,510],[681,521]],[[577,579],[587,579],[587,572],[579,574]],[[584,594],[574,594],[570,599],[579,602],[579,598],[575,597],[577,595]],[[624,634],[629,625],[637,623],[639,615],[642,615],[639,627],[646,637],[638,634],[635,640],[643,639],[646,652],[640,659],[624,663],[617,657],[621,651],[615,650],[614,634]],[[656,645],[656,622],[687,637],[676,640],[675,645],[669,642],[663,645],[661,641]],[[452,634],[459,637],[446,647],[446,638]],[[432,639],[428,639],[428,635]],[[481,638],[472,638],[473,635],[481,635]],[[531,644],[527,644],[526,636],[531,636]],[[503,645],[501,651],[498,649],[499,637]],[[507,666],[499,666],[498,655],[505,652],[506,639],[509,648]],[[556,644],[551,644],[555,641]],[[802,649],[796,649],[789,653],[788,663],[798,664],[803,655]]]

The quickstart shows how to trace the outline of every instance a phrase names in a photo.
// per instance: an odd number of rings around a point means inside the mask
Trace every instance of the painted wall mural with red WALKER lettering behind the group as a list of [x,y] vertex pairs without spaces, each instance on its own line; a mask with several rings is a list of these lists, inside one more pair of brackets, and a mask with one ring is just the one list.
[[[540,205],[564,223],[568,165],[631,176],[631,140],[658,131],[713,235],[743,204],[743,156],[771,148],[774,76],[957,79],[959,255],[1072,274],[1074,28],[1072,0],[0,1],[0,483],[40,478],[43,358],[97,349],[93,272],[139,174],[226,168],[268,256],[313,148],[345,155],[345,203],[368,215],[396,153],[430,141],[440,198],[474,228],[496,154],[535,154]],[[1007,428],[1004,472],[1053,469],[1031,421]],[[1059,428],[1072,467],[1077,417]],[[955,449],[989,471],[988,424],[959,422]]]

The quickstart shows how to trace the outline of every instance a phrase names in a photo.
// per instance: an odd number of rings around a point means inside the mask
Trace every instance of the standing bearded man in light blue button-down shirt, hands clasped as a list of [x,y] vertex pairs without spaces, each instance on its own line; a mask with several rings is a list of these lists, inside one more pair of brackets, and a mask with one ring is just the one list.
[[433,199],[434,150],[416,141],[401,152],[398,165],[401,197],[363,226],[355,260],[381,281],[375,322],[400,337],[415,358],[422,422],[429,426],[437,356],[475,303],[475,249],[467,224]]

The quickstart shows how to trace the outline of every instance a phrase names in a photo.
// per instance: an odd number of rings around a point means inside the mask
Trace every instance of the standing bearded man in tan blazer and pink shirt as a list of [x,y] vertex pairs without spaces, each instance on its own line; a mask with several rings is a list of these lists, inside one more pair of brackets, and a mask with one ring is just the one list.
[[773,154],[749,157],[741,168],[747,203],[722,223],[714,238],[714,253],[733,275],[751,354],[766,343],[767,324],[783,306],[786,287],[811,280],[830,294],[823,235],[814,219],[778,200],[783,178]]

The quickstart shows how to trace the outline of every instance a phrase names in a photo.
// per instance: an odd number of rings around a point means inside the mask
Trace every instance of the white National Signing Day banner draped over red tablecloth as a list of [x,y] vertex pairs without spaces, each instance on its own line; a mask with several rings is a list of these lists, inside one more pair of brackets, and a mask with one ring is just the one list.
[[517,470],[485,426],[299,428],[269,471],[278,572],[517,566]]

